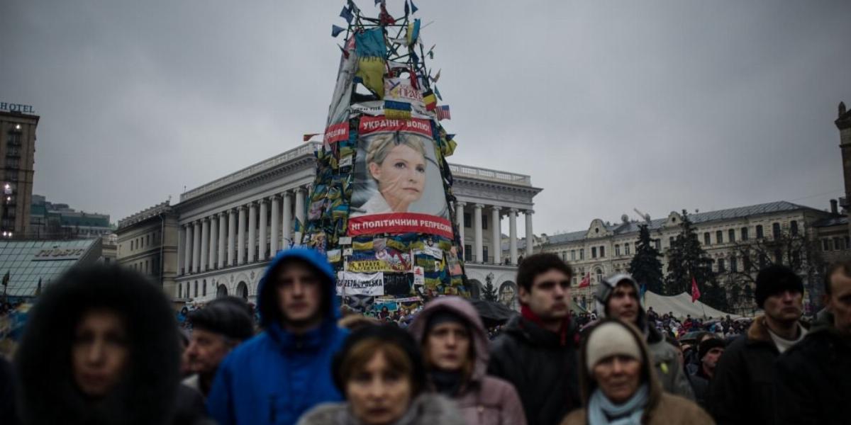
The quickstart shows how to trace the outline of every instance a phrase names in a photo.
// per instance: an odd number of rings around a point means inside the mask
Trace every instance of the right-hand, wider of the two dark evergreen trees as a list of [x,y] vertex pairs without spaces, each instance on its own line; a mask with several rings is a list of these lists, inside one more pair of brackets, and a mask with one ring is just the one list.
[[718,286],[715,272],[712,270],[712,259],[700,246],[694,225],[688,219],[688,212],[683,210],[683,221],[680,223],[681,232],[671,243],[668,250],[668,275],[665,278],[666,293],[677,295],[682,292],[691,293],[692,278],[697,280],[700,289],[700,301],[722,311],[727,309],[727,297]]

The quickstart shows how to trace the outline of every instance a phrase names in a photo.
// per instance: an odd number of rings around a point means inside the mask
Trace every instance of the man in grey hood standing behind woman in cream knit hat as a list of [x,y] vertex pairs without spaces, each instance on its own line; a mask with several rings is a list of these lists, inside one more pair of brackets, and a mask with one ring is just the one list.
[[597,311],[603,317],[624,320],[642,331],[662,388],[671,394],[694,399],[688,377],[683,365],[680,365],[677,348],[667,343],[654,326],[648,326],[647,314],[638,293],[638,282],[631,275],[611,276],[597,285]]

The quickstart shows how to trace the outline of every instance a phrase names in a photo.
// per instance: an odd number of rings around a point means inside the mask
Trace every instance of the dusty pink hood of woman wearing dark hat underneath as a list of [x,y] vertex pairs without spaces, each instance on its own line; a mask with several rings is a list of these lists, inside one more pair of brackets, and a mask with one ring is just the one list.
[[476,308],[469,301],[461,297],[438,297],[426,304],[419,314],[414,318],[408,330],[414,335],[414,339],[420,344],[426,339],[426,326],[431,316],[440,311],[448,311],[457,314],[470,326],[473,342],[473,352],[476,355],[473,365],[471,381],[480,382],[488,370],[488,332],[485,331],[482,318],[479,317]]

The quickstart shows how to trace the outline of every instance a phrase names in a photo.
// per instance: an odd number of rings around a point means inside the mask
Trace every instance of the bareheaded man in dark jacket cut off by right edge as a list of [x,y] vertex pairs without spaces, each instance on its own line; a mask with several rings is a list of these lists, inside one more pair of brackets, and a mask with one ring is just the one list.
[[825,319],[831,321],[817,323],[776,363],[785,423],[838,425],[851,420],[851,261],[828,269],[825,298]]

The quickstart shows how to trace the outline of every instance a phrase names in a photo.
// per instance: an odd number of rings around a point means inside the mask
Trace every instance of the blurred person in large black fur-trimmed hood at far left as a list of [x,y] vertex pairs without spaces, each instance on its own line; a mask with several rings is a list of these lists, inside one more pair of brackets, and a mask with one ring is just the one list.
[[177,332],[145,276],[117,265],[68,270],[38,297],[15,355],[21,422],[203,422],[201,395],[180,387]]

